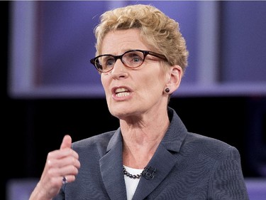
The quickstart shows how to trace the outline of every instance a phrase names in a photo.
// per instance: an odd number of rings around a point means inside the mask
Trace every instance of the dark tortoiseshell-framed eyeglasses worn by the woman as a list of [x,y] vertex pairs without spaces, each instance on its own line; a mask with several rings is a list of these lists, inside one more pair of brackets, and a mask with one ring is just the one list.
[[143,64],[146,56],[148,55],[167,60],[167,58],[160,53],[135,49],[131,51],[126,51],[120,56],[113,56],[111,54],[96,56],[95,58],[92,58],[90,62],[100,73],[107,73],[113,69],[116,60],[118,59],[120,59],[123,65],[128,68],[138,68],[140,65]]

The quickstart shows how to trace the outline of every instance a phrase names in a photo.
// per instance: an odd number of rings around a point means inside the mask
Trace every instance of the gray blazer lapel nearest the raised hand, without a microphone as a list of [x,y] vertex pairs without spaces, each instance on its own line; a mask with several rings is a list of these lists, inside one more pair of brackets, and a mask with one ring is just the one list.
[[109,142],[107,153],[99,160],[104,186],[113,200],[126,199],[122,148],[121,132],[118,129]]

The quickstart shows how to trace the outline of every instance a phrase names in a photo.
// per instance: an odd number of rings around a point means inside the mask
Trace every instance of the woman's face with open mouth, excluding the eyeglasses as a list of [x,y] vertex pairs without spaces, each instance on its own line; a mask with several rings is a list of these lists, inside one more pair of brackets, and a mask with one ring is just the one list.
[[[111,31],[104,37],[101,54],[118,56],[133,49],[153,51],[141,40],[137,29]],[[140,67],[133,69],[118,59],[109,73],[101,73],[107,105],[113,116],[134,119],[165,109],[167,95],[163,91],[169,76],[160,61],[148,55]]]

